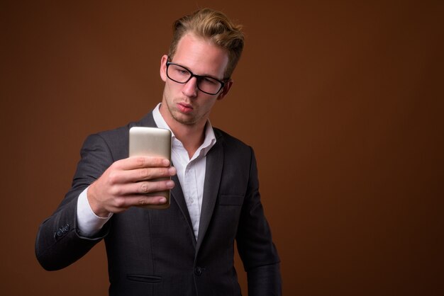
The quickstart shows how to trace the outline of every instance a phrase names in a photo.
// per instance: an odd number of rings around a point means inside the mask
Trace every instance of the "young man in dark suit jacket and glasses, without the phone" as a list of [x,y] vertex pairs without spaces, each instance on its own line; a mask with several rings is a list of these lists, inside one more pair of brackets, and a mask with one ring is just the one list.
[[[258,192],[252,149],[211,127],[231,88],[243,33],[223,13],[202,9],[174,23],[160,61],[165,89],[138,123],[87,138],[72,189],[40,226],[35,253],[47,270],[70,265],[101,239],[110,295],[240,295],[234,241],[249,295],[280,295],[279,257]],[[172,131],[172,164],[128,158],[133,126]],[[172,177],[168,181],[155,181]],[[153,193],[171,189],[167,210]]]

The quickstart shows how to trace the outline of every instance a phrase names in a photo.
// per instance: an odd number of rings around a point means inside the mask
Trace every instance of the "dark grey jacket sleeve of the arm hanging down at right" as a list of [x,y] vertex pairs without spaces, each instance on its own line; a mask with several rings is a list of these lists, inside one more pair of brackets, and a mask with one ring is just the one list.
[[252,152],[250,178],[236,241],[248,276],[248,295],[281,295],[279,256],[260,202],[257,164]]

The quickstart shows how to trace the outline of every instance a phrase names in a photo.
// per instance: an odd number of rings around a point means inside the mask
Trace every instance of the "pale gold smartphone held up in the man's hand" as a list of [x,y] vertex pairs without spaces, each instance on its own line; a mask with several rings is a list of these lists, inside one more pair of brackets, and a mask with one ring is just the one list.
[[[129,156],[160,156],[171,161],[171,131],[157,127],[131,127]],[[168,180],[159,178],[154,181]],[[163,205],[142,205],[146,209],[167,209],[170,207],[170,190],[146,193],[148,196],[163,195],[167,203]]]

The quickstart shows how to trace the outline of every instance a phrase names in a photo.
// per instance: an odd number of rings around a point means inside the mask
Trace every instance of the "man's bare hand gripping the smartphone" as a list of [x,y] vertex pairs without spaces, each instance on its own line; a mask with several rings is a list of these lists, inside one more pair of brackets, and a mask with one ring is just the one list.
[[89,186],[89,205],[99,217],[123,212],[134,205],[162,205],[167,201],[164,197],[143,193],[173,188],[172,180],[152,180],[175,174],[176,169],[170,166],[170,161],[160,157],[133,156],[118,160]]

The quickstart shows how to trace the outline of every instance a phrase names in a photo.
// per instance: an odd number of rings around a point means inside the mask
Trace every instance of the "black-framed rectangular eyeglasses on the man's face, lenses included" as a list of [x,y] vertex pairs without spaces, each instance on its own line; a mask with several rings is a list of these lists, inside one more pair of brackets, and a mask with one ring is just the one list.
[[178,84],[186,84],[189,79],[196,77],[196,84],[199,91],[208,93],[209,95],[217,94],[225,85],[225,82],[223,81],[210,76],[193,74],[189,69],[172,62],[167,62],[167,76]]

